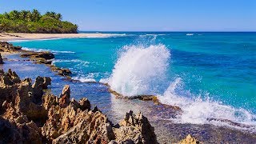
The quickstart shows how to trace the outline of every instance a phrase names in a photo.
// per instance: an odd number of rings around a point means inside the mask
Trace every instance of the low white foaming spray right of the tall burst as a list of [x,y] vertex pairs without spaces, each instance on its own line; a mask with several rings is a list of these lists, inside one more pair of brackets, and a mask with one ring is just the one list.
[[[162,95],[158,95],[160,102],[182,108],[182,114],[172,118],[178,123],[214,124],[216,126],[230,126],[243,130],[256,131],[256,116],[244,109],[223,105],[222,102],[202,99],[184,90],[182,78],[170,82],[170,86]],[[230,123],[231,122],[231,123]],[[246,126],[235,126],[234,123]],[[230,125],[231,124],[231,125]],[[233,125],[232,125],[233,124]]]

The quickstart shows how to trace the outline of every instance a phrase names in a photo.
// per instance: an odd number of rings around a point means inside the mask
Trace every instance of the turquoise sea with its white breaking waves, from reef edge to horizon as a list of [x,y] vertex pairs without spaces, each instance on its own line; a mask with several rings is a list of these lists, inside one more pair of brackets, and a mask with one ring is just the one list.
[[178,122],[256,125],[256,33],[118,34],[12,43],[54,52],[54,65],[82,82],[108,82],[128,96],[158,94],[182,107]]

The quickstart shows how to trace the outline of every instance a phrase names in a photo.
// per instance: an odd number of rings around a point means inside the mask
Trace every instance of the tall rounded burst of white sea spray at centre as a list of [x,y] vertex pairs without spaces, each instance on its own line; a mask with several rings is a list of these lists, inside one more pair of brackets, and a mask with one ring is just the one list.
[[170,51],[162,44],[124,46],[108,83],[126,96],[155,94],[165,81]]

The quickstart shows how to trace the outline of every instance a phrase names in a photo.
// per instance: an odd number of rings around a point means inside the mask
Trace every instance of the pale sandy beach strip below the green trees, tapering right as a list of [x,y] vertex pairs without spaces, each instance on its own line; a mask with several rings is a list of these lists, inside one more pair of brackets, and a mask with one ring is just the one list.
[[[25,33],[0,33],[0,41],[22,41],[36,39],[54,39],[54,38],[104,38],[113,34],[25,34]],[[114,34],[115,35],[115,34]]]

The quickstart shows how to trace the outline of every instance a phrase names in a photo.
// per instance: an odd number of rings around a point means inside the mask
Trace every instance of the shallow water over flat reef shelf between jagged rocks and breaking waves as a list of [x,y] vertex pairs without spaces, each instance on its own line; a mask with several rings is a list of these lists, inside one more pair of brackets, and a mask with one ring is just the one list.
[[[54,74],[48,66],[36,64],[31,61],[23,61],[24,58],[17,61],[19,55],[9,56],[2,68],[8,70],[12,68],[21,78],[37,78],[38,75],[50,77],[53,79],[50,86],[54,95],[58,95],[66,84],[70,85],[72,98],[79,100],[80,98],[88,98],[92,106],[98,106],[103,114],[110,118],[111,122],[118,123],[122,120],[123,115],[127,111],[133,110],[135,113],[142,111],[142,114],[149,118],[150,124],[155,128],[159,143],[180,142],[187,134],[192,134],[199,142],[218,143],[218,142],[253,142],[254,133],[243,132],[241,130],[233,130],[225,126],[211,125],[194,125],[194,124],[178,124],[168,120],[175,116],[175,112],[171,107],[154,105],[151,101],[139,101],[138,99],[120,99],[113,94],[109,95],[105,86],[91,82],[70,82],[62,77]],[[11,59],[14,59],[11,60]],[[104,88],[105,87],[105,88]],[[95,89],[96,88],[96,89]],[[80,91],[82,90],[82,91]],[[95,94],[97,97],[95,97]],[[96,99],[95,99],[96,98]],[[102,102],[102,99],[104,102]],[[159,119],[160,118],[160,119]],[[162,119],[163,118],[163,119]],[[230,135],[231,134],[231,135]],[[209,139],[210,137],[210,139]],[[230,140],[233,139],[233,140]]]

